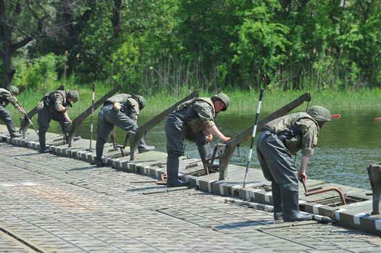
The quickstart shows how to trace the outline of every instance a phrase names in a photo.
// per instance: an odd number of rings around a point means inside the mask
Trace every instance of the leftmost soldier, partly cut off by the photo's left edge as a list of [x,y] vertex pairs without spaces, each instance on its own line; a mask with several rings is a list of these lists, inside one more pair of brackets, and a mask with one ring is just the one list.
[[5,107],[10,102],[20,113],[23,113],[23,111],[17,103],[17,100],[15,100],[15,97],[12,96],[11,92],[13,95],[17,96],[19,95],[19,88],[13,85],[9,87],[9,91],[5,88],[0,88],[0,120],[6,123],[10,138],[17,138],[21,135],[17,133],[15,122],[13,122],[12,118],[10,118],[10,113],[5,109]]

